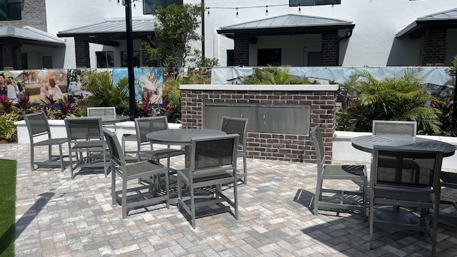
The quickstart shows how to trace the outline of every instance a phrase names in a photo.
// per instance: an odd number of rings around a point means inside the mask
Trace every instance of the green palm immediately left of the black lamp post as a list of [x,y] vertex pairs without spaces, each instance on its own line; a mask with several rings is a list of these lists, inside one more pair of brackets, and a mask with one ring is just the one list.
[[83,71],[81,81],[85,81],[90,96],[88,106],[116,106],[116,113],[129,116],[129,79],[124,77],[116,85],[108,71]]

